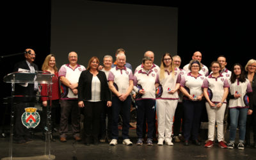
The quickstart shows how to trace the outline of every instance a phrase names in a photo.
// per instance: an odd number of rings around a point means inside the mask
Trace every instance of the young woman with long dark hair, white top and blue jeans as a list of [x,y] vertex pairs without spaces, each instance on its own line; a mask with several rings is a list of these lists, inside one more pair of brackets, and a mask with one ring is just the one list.
[[230,93],[228,94],[230,111],[230,136],[228,148],[234,148],[237,124],[239,124],[239,143],[237,148],[244,149],[247,115],[252,115],[252,106],[248,99],[251,96],[251,83],[244,76],[243,67],[236,63],[232,68],[230,77]]

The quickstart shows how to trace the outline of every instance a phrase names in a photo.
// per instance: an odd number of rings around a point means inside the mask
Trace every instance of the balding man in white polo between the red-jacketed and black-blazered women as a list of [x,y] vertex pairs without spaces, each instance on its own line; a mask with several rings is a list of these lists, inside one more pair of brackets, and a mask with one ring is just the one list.
[[77,53],[68,53],[68,64],[62,65],[59,70],[61,82],[61,118],[60,118],[60,141],[67,141],[68,117],[71,114],[72,134],[76,141],[80,138],[80,112],[77,100],[77,86],[80,74],[85,67],[77,64]]

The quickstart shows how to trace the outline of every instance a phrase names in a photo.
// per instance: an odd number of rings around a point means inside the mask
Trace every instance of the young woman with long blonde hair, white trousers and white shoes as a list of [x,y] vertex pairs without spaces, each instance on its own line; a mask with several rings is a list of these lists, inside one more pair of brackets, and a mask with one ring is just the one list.
[[157,88],[156,111],[158,143],[173,145],[172,125],[175,109],[177,108],[179,95],[177,90],[180,86],[180,70],[175,68],[172,56],[169,53],[163,55],[160,66],[159,87]]

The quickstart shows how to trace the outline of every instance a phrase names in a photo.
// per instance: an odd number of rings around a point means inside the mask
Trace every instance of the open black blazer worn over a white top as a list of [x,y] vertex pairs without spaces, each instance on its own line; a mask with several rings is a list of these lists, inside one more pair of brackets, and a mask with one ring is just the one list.
[[[78,101],[92,99],[92,77],[89,70],[84,70],[78,81]],[[100,80],[100,100],[111,100],[111,92],[108,87],[106,74],[99,70],[97,77]]]

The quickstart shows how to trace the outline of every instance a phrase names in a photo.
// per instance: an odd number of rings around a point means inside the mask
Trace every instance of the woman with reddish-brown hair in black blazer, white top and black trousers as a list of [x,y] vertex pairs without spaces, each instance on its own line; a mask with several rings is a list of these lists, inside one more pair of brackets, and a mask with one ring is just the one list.
[[93,138],[99,144],[100,114],[104,105],[111,106],[111,92],[108,88],[106,74],[100,70],[99,59],[93,56],[78,82],[78,106],[84,108],[85,144],[89,145]]

